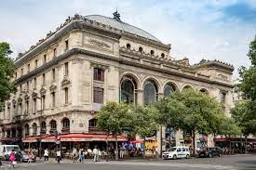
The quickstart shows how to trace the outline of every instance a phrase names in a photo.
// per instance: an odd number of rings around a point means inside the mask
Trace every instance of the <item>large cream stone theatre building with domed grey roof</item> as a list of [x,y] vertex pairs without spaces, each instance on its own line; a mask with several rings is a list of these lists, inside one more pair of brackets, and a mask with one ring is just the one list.
[[188,87],[221,100],[228,114],[234,67],[204,59],[190,65],[170,54],[170,45],[121,21],[117,12],[113,19],[68,18],[15,60],[17,92],[1,113],[1,141],[33,142],[40,134],[51,141],[56,131],[64,141],[104,141],[94,119],[102,104],[149,104]]

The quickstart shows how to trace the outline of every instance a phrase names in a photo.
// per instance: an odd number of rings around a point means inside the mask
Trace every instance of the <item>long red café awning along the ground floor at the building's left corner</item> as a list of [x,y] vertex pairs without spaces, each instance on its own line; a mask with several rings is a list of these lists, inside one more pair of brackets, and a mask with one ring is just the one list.
[[[61,141],[115,141],[115,137],[107,137],[104,134],[66,134],[60,135]],[[39,137],[22,138],[22,142],[36,142]],[[55,142],[55,136],[43,136],[42,142]],[[127,136],[117,136],[117,141],[128,141]]]

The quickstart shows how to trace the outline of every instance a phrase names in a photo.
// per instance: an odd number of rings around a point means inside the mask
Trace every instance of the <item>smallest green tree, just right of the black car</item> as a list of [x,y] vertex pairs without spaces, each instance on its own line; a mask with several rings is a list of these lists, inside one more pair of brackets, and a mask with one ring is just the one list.
[[[233,136],[241,135],[241,128],[236,124],[235,119],[225,117],[222,120],[222,124],[220,124],[220,135],[225,136],[226,138],[230,138]],[[229,142],[229,150],[231,150],[231,140]],[[231,151],[229,152],[231,154]]]

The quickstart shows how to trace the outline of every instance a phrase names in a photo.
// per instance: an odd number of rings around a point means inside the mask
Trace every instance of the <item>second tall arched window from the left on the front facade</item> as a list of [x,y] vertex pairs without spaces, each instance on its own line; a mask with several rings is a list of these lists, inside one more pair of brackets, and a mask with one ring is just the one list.
[[149,105],[157,100],[157,85],[152,80],[147,80],[144,84],[144,104]]

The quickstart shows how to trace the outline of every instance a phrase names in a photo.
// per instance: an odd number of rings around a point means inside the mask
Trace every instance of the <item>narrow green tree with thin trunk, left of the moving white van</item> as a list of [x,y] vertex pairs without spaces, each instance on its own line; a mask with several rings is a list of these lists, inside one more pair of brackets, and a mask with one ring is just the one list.
[[132,112],[133,132],[143,138],[143,158],[145,158],[145,138],[152,137],[159,124],[155,122],[158,111],[153,106],[134,106]]

